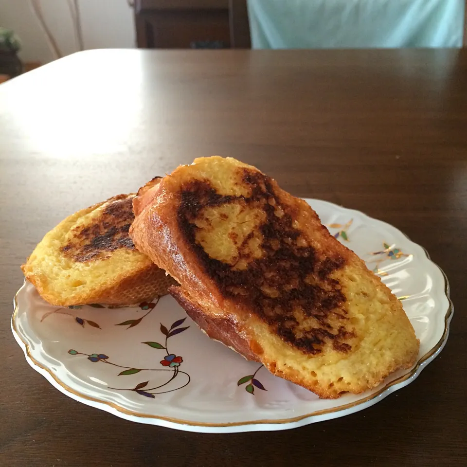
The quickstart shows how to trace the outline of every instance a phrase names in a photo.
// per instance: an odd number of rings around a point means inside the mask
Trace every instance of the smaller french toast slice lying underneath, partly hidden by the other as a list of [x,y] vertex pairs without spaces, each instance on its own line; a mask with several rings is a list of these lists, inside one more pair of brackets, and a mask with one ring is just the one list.
[[175,284],[128,236],[134,197],[118,195],[82,209],[44,236],[21,266],[44,300],[60,306],[134,305]]

